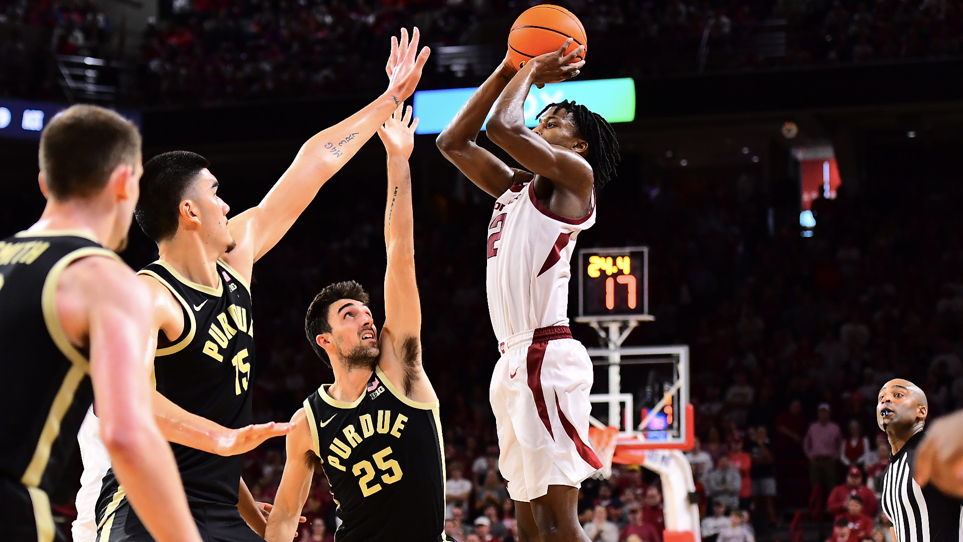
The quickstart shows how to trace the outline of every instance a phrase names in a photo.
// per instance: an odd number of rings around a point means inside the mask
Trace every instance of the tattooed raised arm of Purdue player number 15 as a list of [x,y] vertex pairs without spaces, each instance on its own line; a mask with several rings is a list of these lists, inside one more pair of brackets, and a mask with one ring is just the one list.
[[361,111],[307,140],[264,200],[231,219],[228,226],[237,247],[224,255],[231,266],[249,278],[253,262],[271,250],[294,225],[327,179],[375,135],[377,127],[398,104],[414,93],[430,52],[425,47],[416,56],[418,40],[418,28],[410,42],[404,29],[400,42],[392,37],[388,90]]

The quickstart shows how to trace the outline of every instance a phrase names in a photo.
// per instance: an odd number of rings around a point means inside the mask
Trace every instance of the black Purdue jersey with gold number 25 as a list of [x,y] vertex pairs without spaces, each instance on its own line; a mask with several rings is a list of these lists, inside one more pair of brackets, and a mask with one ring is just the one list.
[[433,542],[445,528],[438,403],[399,392],[377,368],[353,403],[322,386],[304,400],[342,524],[338,542]]

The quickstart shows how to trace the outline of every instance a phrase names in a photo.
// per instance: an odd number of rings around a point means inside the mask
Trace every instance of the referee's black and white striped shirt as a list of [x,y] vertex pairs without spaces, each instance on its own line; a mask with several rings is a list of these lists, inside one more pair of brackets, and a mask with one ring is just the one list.
[[897,542],[963,542],[963,502],[940,493],[932,484],[921,488],[913,479],[916,448],[922,440],[920,431],[890,456],[880,505],[893,522]]

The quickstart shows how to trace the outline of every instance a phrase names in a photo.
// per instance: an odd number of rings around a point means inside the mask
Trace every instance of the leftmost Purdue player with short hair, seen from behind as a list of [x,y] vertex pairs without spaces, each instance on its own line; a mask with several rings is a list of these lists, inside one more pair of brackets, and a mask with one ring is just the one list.
[[113,111],[75,105],[43,128],[39,162],[43,214],[0,241],[0,538],[65,539],[47,495],[96,398],[144,525],[161,542],[200,542],[150,412],[150,298],[114,252],[138,200],[141,135]]

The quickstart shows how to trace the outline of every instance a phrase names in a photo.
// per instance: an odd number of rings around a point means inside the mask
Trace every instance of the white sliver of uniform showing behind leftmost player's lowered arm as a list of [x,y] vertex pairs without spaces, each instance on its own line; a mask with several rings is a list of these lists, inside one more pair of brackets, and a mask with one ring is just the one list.
[[93,415],[93,407],[77,433],[80,458],[84,462],[84,474],[80,475],[80,491],[77,492],[77,519],[73,522],[74,542],[93,542],[97,537],[94,508],[100,497],[104,475],[111,468],[111,456],[100,440],[100,420]]

